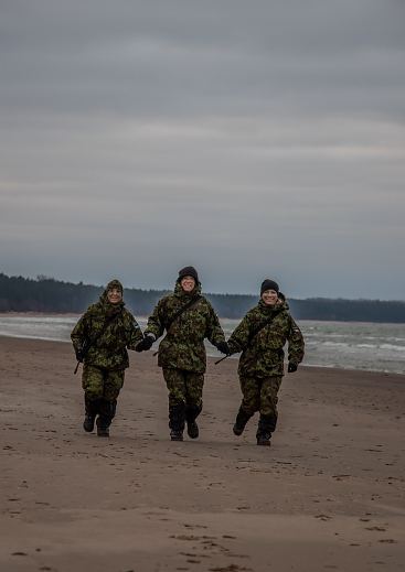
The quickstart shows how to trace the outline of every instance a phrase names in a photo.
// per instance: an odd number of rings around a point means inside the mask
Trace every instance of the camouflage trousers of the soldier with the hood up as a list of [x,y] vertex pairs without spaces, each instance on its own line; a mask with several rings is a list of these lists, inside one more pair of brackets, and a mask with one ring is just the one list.
[[114,402],[124,385],[125,370],[109,370],[84,364],[82,387],[88,400],[104,399]]

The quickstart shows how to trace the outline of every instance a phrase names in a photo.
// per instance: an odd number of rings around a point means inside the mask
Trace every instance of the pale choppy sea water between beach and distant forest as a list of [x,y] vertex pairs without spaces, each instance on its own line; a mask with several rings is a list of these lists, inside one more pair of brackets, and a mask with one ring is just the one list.
[[[70,342],[78,317],[2,314],[0,335]],[[146,322],[138,319],[142,330]],[[238,323],[221,320],[226,337]],[[301,320],[298,325],[306,342],[305,365],[405,374],[405,324]],[[220,356],[211,344],[206,348],[209,355]]]

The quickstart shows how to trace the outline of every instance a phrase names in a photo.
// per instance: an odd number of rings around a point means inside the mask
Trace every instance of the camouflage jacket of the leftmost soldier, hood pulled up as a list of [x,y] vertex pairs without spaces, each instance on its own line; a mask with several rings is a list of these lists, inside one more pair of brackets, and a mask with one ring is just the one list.
[[127,348],[135,349],[142,337],[138,323],[126,310],[125,303],[108,302],[107,290],[99,302],[87,309],[71,334],[75,350],[82,349],[85,343],[90,344],[84,363],[105,369],[126,369],[129,366]]

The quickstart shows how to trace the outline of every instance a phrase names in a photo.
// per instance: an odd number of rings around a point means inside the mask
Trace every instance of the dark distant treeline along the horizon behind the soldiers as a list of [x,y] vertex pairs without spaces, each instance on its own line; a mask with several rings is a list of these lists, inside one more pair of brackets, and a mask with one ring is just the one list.
[[[103,287],[73,284],[39,276],[36,279],[0,273],[0,312],[82,313],[96,302]],[[125,301],[136,316],[149,315],[163,290],[126,289]],[[221,317],[242,317],[258,296],[205,294]],[[405,302],[312,298],[288,299],[296,320],[405,323]]]

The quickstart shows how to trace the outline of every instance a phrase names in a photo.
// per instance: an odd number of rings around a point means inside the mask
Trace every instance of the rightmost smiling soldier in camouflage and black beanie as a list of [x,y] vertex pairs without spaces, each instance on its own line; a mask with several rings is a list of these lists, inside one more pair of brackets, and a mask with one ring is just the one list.
[[259,411],[258,445],[270,445],[276,429],[277,393],[284,376],[284,346],[288,342],[288,371],[297,371],[303,358],[302,334],[274,280],[262,283],[260,300],[228,339],[230,353],[242,352],[238,375],[243,400],[233,428],[242,435],[247,421]]

